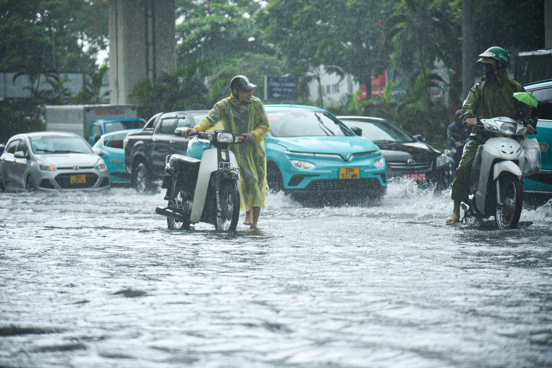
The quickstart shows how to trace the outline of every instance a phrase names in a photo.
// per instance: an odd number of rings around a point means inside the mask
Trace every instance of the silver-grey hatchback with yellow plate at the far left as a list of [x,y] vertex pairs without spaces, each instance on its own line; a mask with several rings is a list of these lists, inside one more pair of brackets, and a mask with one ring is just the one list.
[[105,162],[79,135],[35,132],[9,138],[0,156],[0,191],[110,187]]

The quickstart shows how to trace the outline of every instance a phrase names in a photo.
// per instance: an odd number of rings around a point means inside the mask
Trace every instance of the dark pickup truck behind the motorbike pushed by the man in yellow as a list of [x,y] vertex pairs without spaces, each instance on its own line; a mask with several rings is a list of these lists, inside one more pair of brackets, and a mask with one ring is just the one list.
[[138,191],[153,189],[163,179],[165,157],[186,154],[188,138],[175,135],[177,127],[194,127],[209,110],[176,111],[153,115],[144,129],[130,132],[123,141],[125,171]]

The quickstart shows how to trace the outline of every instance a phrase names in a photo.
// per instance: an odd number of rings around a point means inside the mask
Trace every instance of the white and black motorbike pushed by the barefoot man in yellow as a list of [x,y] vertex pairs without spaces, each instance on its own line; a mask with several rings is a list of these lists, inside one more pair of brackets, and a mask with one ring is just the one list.
[[[175,134],[185,129],[177,128]],[[203,151],[200,160],[167,156],[161,188],[167,189],[168,206],[158,206],[155,212],[167,217],[169,230],[188,230],[190,223],[207,222],[217,231],[234,231],[240,216],[240,169],[228,146],[245,142],[245,137],[216,130],[199,132],[198,138],[214,148]]]

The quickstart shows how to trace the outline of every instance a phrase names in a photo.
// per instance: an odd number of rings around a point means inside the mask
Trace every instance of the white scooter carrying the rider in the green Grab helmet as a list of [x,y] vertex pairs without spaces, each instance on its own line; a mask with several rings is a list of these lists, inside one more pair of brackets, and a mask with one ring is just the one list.
[[501,117],[477,125],[495,137],[477,148],[470,173],[470,200],[461,204],[464,219],[495,216],[500,229],[516,228],[522,210],[523,142],[526,127]]

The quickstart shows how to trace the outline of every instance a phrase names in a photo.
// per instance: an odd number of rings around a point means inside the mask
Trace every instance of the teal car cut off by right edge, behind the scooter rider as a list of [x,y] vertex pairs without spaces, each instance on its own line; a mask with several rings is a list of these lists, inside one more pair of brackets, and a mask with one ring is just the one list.
[[523,86],[533,94],[539,104],[537,134],[528,138],[537,138],[540,146],[540,172],[525,178],[523,191],[552,197],[552,79]]

